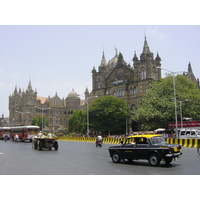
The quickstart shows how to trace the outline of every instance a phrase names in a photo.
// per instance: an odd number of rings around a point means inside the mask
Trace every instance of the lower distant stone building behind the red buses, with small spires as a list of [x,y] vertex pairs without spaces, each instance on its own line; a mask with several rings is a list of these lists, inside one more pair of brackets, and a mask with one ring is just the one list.
[[34,116],[42,115],[48,119],[48,131],[57,131],[67,127],[68,117],[74,110],[85,109],[84,102],[74,90],[65,99],[57,93],[53,97],[38,97],[29,81],[26,91],[16,86],[9,96],[9,121],[12,126],[30,125]]

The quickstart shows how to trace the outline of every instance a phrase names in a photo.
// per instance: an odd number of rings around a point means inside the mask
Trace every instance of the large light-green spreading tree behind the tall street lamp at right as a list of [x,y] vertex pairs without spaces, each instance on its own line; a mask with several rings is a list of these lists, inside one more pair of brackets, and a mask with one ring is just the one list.
[[[183,105],[184,116],[200,119],[200,90],[186,76],[175,77],[177,114],[180,120],[180,101],[188,100]],[[132,113],[132,120],[139,124],[140,130],[167,128],[169,122],[175,122],[173,77],[168,75],[161,81],[152,82],[141,106]]]

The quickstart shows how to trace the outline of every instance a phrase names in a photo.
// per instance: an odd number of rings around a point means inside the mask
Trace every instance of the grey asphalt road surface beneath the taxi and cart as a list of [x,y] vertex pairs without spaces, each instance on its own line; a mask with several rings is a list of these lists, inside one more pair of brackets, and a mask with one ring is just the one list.
[[200,175],[196,148],[183,148],[180,159],[152,167],[148,161],[113,163],[108,147],[58,141],[57,151],[35,150],[31,143],[0,141],[0,175]]

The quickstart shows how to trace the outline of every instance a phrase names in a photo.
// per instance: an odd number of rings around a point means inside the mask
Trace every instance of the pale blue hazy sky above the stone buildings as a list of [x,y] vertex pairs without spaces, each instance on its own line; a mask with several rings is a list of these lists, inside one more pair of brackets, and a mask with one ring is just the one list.
[[[51,6],[53,9],[53,4]],[[127,10],[130,11],[128,6]],[[23,12],[28,13],[22,9]],[[4,12],[5,15],[9,13]],[[88,23],[79,23],[80,17],[66,24],[60,20],[62,17],[57,21],[43,21],[45,17],[36,18],[36,21],[30,18],[28,23],[24,21],[26,17],[21,20],[21,15],[17,16],[14,16],[17,19],[14,22],[13,18],[0,20],[0,115],[4,114],[4,117],[9,116],[8,97],[15,86],[25,91],[29,81],[40,97],[53,97],[57,92],[60,98],[66,98],[74,89],[84,99],[86,87],[89,92],[92,90],[91,71],[93,67],[98,69],[103,52],[108,62],[115,56],[117,48],[124,60],[133,65],[134,52],[139,58],[145,36],[154,57],[159,53],[162,68],[173,72],[185,71],[191,62],[196,78],[200,78],[199,25],[148,25],[148,20],[145,20],[145,24],[141,22],[144,25],[126,25],[120,21],[123,15],[96,23],[90,20]],[[162,76],[165,73],[162,70]]]

